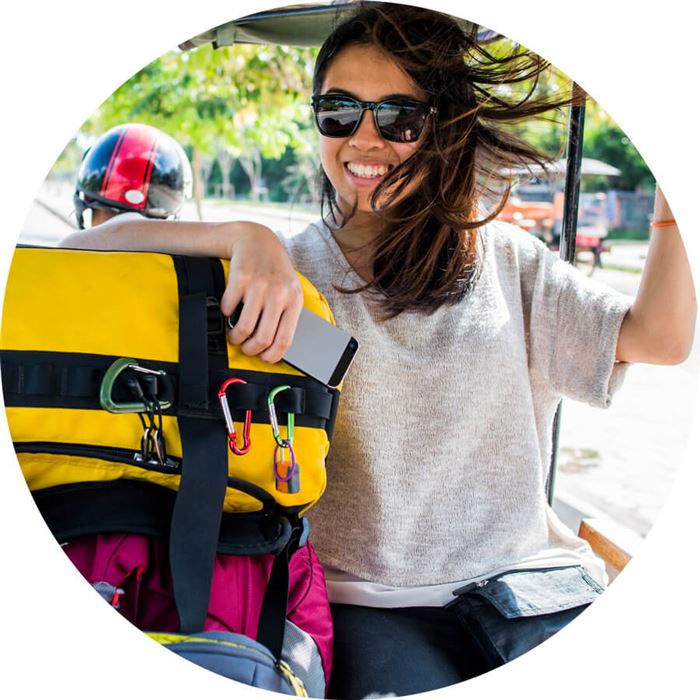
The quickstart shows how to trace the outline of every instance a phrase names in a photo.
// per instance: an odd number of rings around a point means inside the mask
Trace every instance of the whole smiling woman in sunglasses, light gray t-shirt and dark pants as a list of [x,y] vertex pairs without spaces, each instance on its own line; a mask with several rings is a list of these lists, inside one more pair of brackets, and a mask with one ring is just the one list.
[[221,310],[244,302],[229,340],[247,355],[274,362],[288,346],[295,268],[360,339],[311,512],[332,697],[472,678],[595,600],[602,562],[545,496],[555,407],[605,407],[625,361],[687,355],[694,290],[660,192],[634,304],[479,208],[507,166],[542,159],[503,127],[569,102],[500,91],[544,65],[491,55],[446,15],[363,3],[316,65],[321,220],[280,241],[246,222],[117,219],[65,242],[230,258]]

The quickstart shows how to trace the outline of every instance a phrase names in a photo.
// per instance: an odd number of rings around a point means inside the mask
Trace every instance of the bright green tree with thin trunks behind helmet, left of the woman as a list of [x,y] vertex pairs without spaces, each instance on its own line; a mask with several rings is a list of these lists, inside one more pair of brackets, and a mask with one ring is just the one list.
[[279,158],[302,143],[312,65],[311,50],[284,46],[167,53],[127,80],[83,130],[96,134],[138,121],[191,146],[201,217],[205,174],[222,151],[239,160],[255,193],[261,158]]

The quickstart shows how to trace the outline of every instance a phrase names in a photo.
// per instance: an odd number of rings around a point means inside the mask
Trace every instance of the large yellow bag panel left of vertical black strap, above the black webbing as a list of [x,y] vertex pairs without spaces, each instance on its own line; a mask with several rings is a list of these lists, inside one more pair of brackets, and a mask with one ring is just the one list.
[[3,350],[177,362],[172,258],[18,248],[5,291],[1,343]]

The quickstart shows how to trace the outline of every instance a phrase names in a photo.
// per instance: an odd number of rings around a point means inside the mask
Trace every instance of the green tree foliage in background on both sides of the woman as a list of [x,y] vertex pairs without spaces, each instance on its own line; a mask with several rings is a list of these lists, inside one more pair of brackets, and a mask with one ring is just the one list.
[[[503,40],[489,50],[498,54],[513,48]],[[255,197],[263,190],[261,179],[274,175],[268,186],[275,198],[302,194],[314,199],[318,145],[308,100],[315,54],[315,49],[267,45],[205,46],[164,54],[121,85],[85,122],[81,134],[95,137],[131,121],[162,129],[191,154],[199,197],[206,193],[208,173],[215,172],[224,194],[231,192],[231,179],[247,177],[248,184],[236,185],[236,191]],[[524,83],[503,89],[524,96],[531,87]],[[535,91],[553,95],[569,89],[569,78],[551,68]],[[566,111],[553,112],[514,129],[544,153],[561,158],[567,116]],[[71,148],[64,154],[64,166],[76,159],[76,146]],[[652,182],[629,139],[592,100],[586,111],[584,155],[622,170],[613,183],[619,188]]]

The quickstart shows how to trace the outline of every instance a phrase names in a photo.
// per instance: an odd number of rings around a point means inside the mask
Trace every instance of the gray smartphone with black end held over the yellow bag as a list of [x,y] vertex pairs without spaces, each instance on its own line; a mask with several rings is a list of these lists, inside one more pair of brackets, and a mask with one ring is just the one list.
[[[226,319],[229,328],[236,325],[242,310],[243,304],[239,304]],[[343,381],[359,347],[350,333],[302,309],[284,361],[319,382],[336,387]]]

